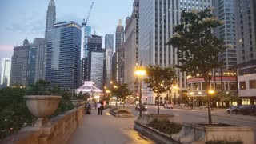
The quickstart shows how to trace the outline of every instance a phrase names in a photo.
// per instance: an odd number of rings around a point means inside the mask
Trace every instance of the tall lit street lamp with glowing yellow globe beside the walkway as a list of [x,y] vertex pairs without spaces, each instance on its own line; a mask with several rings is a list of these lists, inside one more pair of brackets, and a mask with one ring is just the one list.
[[137,67],[137,69],[135,70],[135,75],[137,75],[140,80],[139,80],[139,98],[138,98],[138,102],[139,102],[139,118],[142,117],[142,77],[146,74],[146,70],[143,69],[142,67],[142,61],[140,66]]

